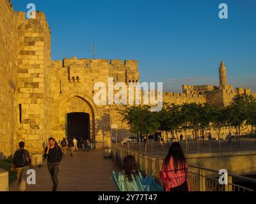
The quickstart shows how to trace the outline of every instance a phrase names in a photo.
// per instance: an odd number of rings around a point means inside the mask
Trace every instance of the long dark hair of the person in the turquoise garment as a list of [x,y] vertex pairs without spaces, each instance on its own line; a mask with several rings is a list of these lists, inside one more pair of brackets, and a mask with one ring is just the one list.
[[121,171],[124,171],[126,178],[131,182],[132,175],[136,177],[138,175],[138,166],[136,164],[135,158],[132,155],[124,157],[124,163],[121,168]]

